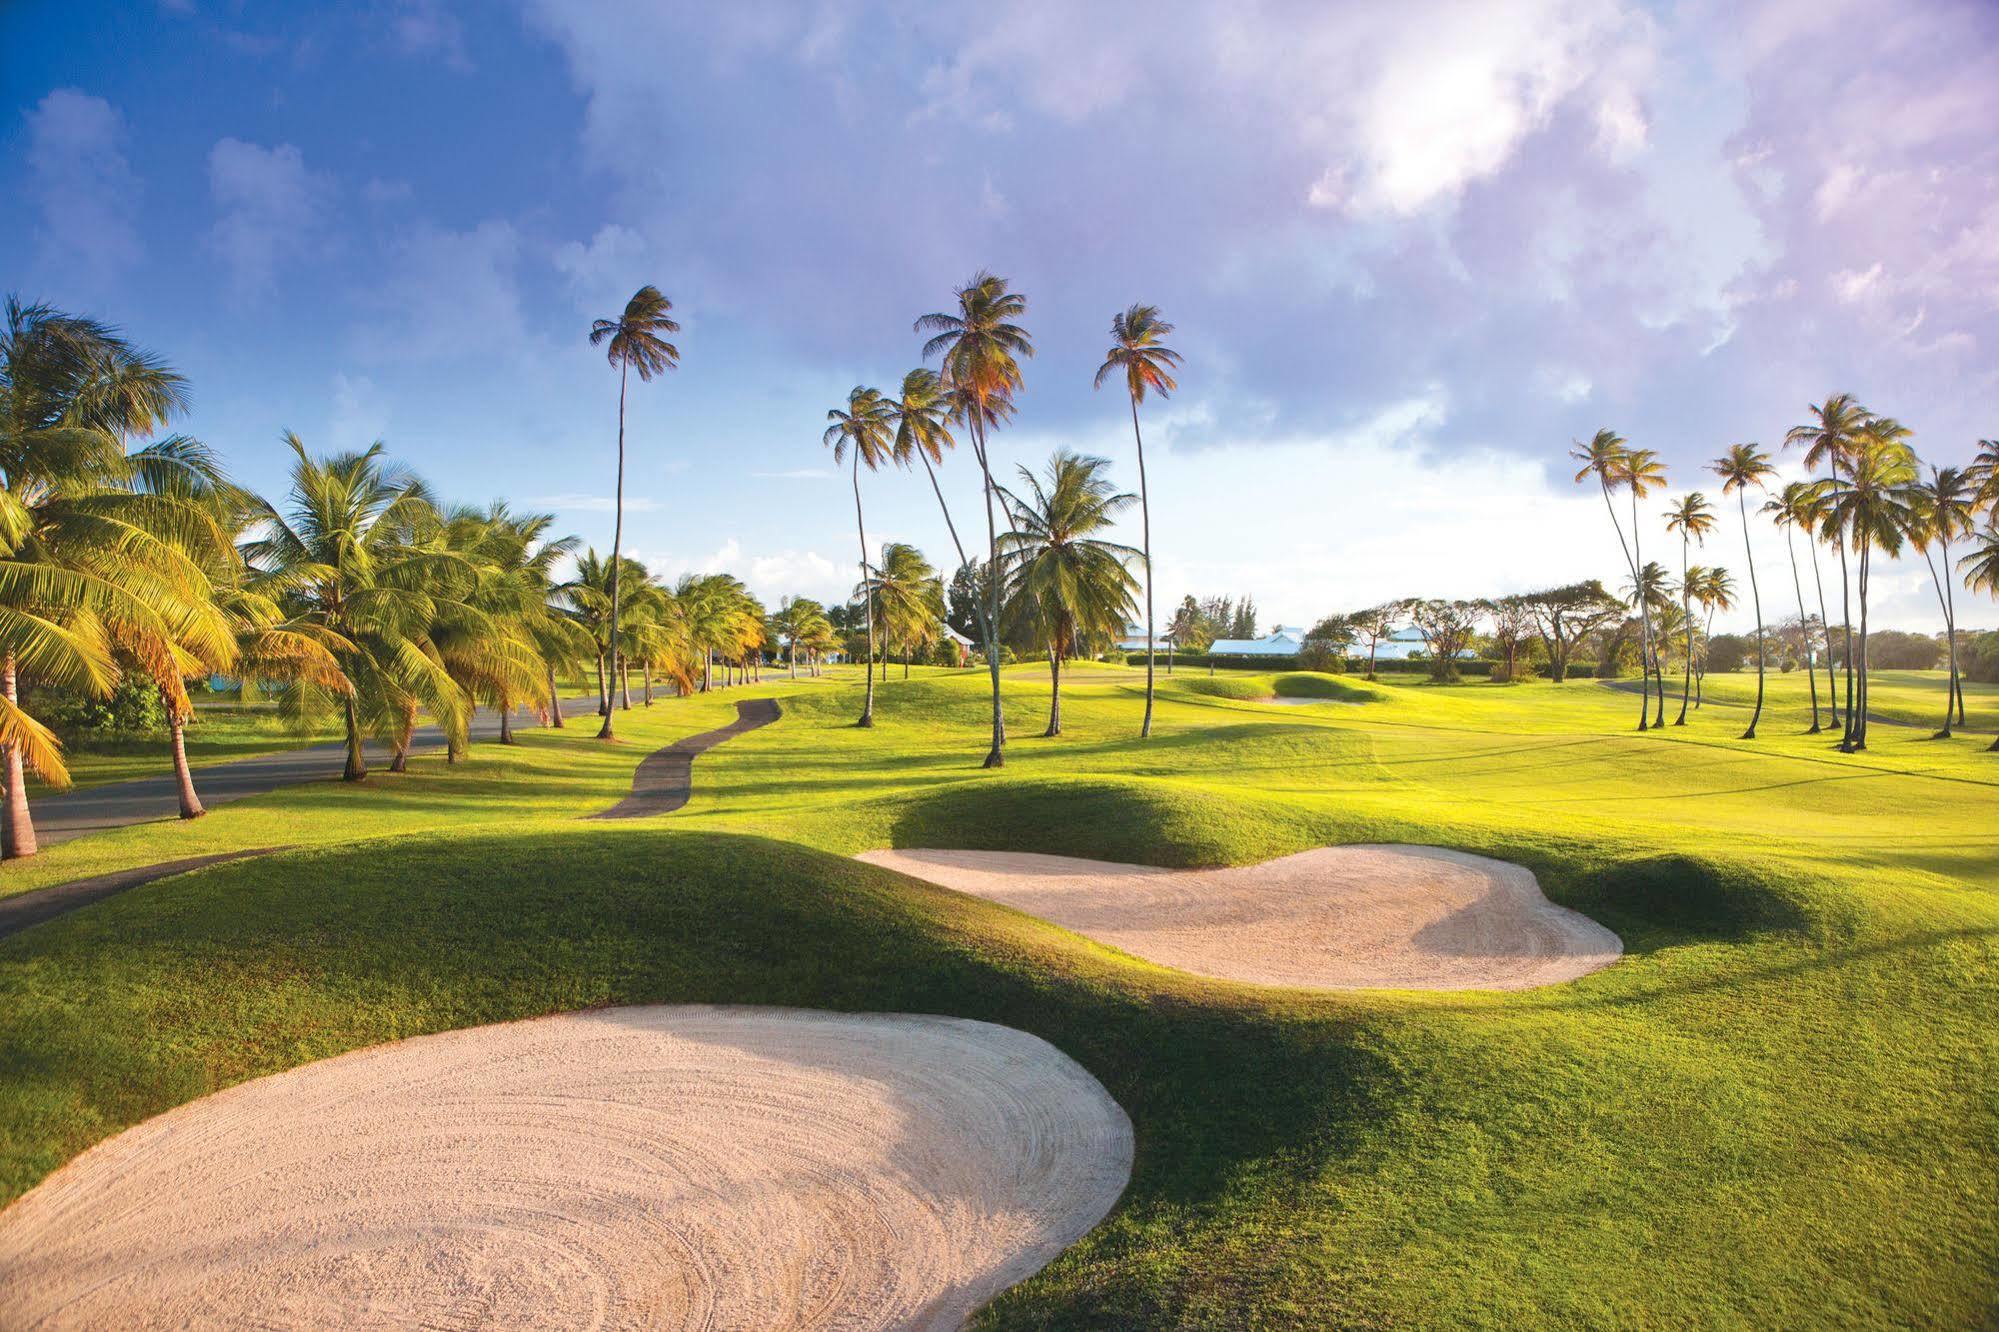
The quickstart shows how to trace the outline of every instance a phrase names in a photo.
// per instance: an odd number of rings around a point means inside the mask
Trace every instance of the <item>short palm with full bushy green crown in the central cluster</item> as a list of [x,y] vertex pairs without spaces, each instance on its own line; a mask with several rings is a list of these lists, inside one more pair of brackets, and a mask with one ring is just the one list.
[[1061,734],[1061,660],[1075,644],[1117,634],[1137,608],[1137,582],[1125,564],[1139,556],[1107,542],[1103,532],[1137,500],[1111,486],[1105,458],[1057,450],[1047,460],[1047,484],[1019,468],[1027,496],[1001,490],[1013,532],[1001,542],[1007,560],[1007,600],[1037,624],[1047,640],[1049,706],[1045,736]]

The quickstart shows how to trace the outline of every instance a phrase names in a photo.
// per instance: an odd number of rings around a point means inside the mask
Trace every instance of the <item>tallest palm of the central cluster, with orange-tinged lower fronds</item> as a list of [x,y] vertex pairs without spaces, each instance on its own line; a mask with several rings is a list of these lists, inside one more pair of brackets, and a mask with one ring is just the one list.
[[[986,482],[986,550],[988,564],[1000,568],[1000,526],[994,512],[998,484],[994,482],[988,430],[1013,412],[1013,394],[1021,388],[1019,362],[1033,356],[1033,340],[1017,320],[1027,314],[1027,298],[1007,290],[1005,278],[990,272],[958,288],[958,310],[940,310],[916,320],[916,332],[930,334],[924,360],[942,358],[946,388],[958,394],[960,420],[972,438],[972,454]],[[1000,710],[1000,590],[1003,578],[992,578],[986,608],[986,666],[992,672],[994,738],[986,766],[1005,762],[1005,716]]]

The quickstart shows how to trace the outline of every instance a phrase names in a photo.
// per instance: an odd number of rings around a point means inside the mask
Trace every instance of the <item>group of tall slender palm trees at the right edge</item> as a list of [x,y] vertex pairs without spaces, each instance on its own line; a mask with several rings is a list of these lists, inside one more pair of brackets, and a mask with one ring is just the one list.
[[[1869,592],[1875,554],[1897,556],[1907,548],[1923,554],[1937,606],[1943,612],[1949,642],[1949,690],[1945,694],[1939,738],[1963,726],[1963,682],[1957,670],[1957,600],[1961,582],[1971,590],[1999,596],[1999,444],[1979,440],[1977,456],[1965,468],[1929,466],[1917,458],[1907,426],[1891,416],[1865,408],[1853,394],[1835,394],[1809,408],[1809,420],[1785,434],[1787,448],[1799,448],[1807,480],[1785,484],[1765,498],[1759,512],[1785,534],[1791,562],[1791,588],[1797,598],[1799,624],[1807,626],[1807,676],[1811,680],[1811,734],[1827,726],[1839,730],[1845,752],[1867,748],[1867,634]],[[1587,444],[1569,450],[1581,466],[1577,482],[1595,482],[1603,494],[1617,542],[1631,576],[1631,598],[1641,620],[1639,730],[1665,726],[1663,642],[1655,634],[1655,618],[1673,600],[1671,576],[1647,562],[1641,550],[1639,504],[1665,486],[1665,466],[1653,450],[1633,448],[1613,430],[1599,430]],[[1763,716],[1763,684],[1767,672],[1763,594],[1757,582],[1749,540],[1749,492],[1767,490],[1775,466],[1755,444],[1733,444],[1709,464],[1721,480],[1721,494],[1735,496],[1735,516],[1743,534],[1743,560],[1749,576],[1749,596],[1755,614],[1757,698],[1749,716],[1745,740],[1753,740]],[[1613,496],[1625,492],[1631,502],[1631,530],[1625,532]],[[1717,520],[1707,496],[1691,492],[1669,506],[1667,532],[1681,542],[1681,576],[1677,582],[1677,620],[1685,634],[1685,668],[1675,726],[1687,720],[1687,700],[1695,678],[1693,606],[1701,604],[1711,622],[1715,608],[1733,604],[1733,582],[1723,570],[1691,564],[1695,546],[1715,532]],[[1805,534],[1811,552],[1811,576],[1817,592],[1817,624],[1825,628],[1825,652],[1809,634],[1813,616],[1807,612],[1805,582],[1793,536]],[[1953,542],[1973,540],[1973,552],[1957,560]],[[1827,548],[1837,566],[1839,644],[1825,600],[1825,568],[1819,548]],[[1855,624],[1857,612],[1857,624]],[[1827,700],[1821,712],[1817,668],[1823,660]],[[1653,692],[1657,686],[1657,692]],[[1653,710],[1657,700],[1657,710]],[[1825,716],[1829,714],[1829,722]],[[1999,742],[1993,744],[1999,750]]]

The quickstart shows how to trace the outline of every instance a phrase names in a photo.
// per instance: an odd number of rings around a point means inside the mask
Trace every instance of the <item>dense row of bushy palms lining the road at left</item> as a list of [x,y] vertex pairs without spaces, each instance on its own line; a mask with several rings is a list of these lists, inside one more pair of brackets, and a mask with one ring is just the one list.
[[[644,294],[642,294],[644,296]],[[664,302],[662,302],[664,304]],[[610,334],[642,378],[670,364],[638,336],[662,306]],[[624,338],[624,342],[620,342]],[[620,352],[622,348],[622,352]],[[0,326],[0,852],[36,850],[28,774],[68,782],[62,744],[28,686],[106,696],[156,688],[184,818],[202,814],[184,728],[190,684],[228,674],[276,694],[300,722],[338,718],[346,778],[364,740],[402,770],[418,718],[464,754],[478,708],[512,742],[522,708],[560,726],[558,676],[596,664],[602,734],[654,680],[682,692],[752,678],[792,646],[794,672],[836,648],[812,602],[780,616],[728,574],[666,586],[620,554],[578,552],[548,514],[450,508],[382,444],[314,456],[292,434],[290,484],[268,502],[198,440],[162,434],[186,380],[118,330],[10,300]],[[140,440],[148,440],[136,446]],[[614,536],[616,542],[616,536]]]

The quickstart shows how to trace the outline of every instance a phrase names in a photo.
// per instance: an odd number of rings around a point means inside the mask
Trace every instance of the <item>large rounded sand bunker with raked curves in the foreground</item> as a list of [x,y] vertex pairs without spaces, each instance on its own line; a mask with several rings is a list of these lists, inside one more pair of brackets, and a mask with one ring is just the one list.
[[1131,1124],[986,1022],[612,1008],[248,1082],[0,1214],[0,1324],[954,1328]]

